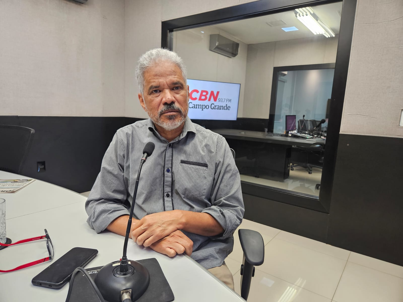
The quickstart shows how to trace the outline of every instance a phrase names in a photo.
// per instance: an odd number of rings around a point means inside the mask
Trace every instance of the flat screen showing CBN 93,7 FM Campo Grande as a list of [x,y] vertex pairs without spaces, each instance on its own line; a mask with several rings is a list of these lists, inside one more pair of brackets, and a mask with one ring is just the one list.
[[241,84],[187,79],[189,118],[236,120]]

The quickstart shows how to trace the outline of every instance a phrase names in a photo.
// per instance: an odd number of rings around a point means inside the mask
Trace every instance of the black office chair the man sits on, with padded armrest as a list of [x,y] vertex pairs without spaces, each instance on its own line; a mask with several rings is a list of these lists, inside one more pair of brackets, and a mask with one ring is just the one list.
[[[235,151],[230,148],[235,159]],[[247,229],[238,230],[239,241],[243,250],[241,265],[241,297],[247,300],[252,277],[255,276],[255,266],[264,261],[264,242],[259,232]]]

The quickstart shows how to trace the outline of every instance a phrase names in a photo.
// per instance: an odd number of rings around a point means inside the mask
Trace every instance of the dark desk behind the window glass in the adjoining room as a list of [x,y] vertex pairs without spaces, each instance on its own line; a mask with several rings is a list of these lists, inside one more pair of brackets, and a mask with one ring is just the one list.
[[[264,170],[264,174],[280,181],[289,178],[292,146],[309,147],[326,142],[326,139],[282,137],[273,133],[249,130],[212,129],[212,131],[227,139],[229,146],[235,149],[237,158],[247,155],[255,157],[256,162],[259,161],[258,165],[255,165],[256,169]],[[246,144],[245,141],[251,143]]]

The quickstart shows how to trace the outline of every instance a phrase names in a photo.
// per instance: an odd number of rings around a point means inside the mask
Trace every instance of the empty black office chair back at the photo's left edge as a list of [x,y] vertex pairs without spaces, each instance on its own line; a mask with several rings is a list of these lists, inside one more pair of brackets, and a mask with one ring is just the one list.
[[0,170],[21,174],[34,133],[27,127],[0,125]]

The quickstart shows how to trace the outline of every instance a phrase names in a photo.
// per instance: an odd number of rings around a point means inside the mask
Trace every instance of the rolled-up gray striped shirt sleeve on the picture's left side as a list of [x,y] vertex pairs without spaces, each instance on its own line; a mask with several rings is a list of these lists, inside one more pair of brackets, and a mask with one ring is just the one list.
[[97,233],[102,232],[117,217],[129,215],[125,206],[127,184],[125,183],[125,150],[126,147],[116,132],[110,143],[101,171],[85,202],[88,214],[87,223]]

